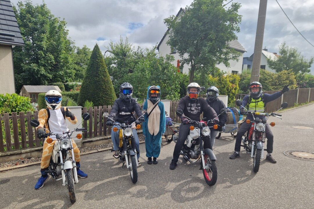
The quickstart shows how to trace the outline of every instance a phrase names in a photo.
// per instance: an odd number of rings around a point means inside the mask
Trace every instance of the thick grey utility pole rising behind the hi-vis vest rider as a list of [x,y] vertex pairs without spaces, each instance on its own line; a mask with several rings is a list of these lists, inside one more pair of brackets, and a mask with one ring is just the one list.
[[267,0],[260,0],[256,36],[255,36],[253,63],[252,63],[251,83],[253,81],[259,80],[259,71],[261,68],[261,57],[262,57],[263,38],[264,38],[264,29],[265,29],[265,20],[266,20],[266,8],[267,8]]

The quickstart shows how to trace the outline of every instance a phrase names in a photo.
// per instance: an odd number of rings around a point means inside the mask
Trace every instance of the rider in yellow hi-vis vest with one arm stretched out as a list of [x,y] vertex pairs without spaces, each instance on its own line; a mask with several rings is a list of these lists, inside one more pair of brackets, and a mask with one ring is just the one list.
[[[289,88],[288,85],[284,86],[284,88],[276,92],[274,94],[263,94],[262,91],[262,84],[254,81],[249,85],[249,92],[250,95],[246,95],[242,100],[242,106],[246,107],[246,109],[250,112],[256,111],[256,112],[265,112],[265,105],[273,101],[275,99],[278,99],[281,97],[282,94],[285,92],[288,92]],[[240,115],[245,114],[245,109],[240,106]],[[259,118],[264,118],[265,116],[258,116]],[[253,116],[251,114],[246,115],[246,119],[253,120]],[[241,148],[241,139],[242,136],[246,133],[246,131],[250,130],[250,127],[252,125],[252,122],[242,123],[241,127],[237,133],[236,137],[236,144],[235,144],[235,152],[230,156],[230,159],[235,159],[240,157],[240,148]],[[267,138],[267,157],[266,160],[270,161],[271,163],[276,163],[277,161],[273,158],[271,153],[273,153],[273,133],[270,130],[270,127],[268,124],[265,124],[265,132],[266,132],[266,138]]]

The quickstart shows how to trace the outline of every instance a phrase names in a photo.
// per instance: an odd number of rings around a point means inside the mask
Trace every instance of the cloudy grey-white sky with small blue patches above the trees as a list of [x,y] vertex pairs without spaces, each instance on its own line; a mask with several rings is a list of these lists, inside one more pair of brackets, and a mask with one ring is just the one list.
[[[229,2],[228,0],[227,2]],[[16,5],[18,0],[11,0]],[[33,0],[41,4],[41,0]],[[93,49],[98,43],[102,52],[106,51],[110,40],[116,42],[120,35],[133,46],[152,47],[159,43],[167,30],[163,19],[176,15],[192,0],[46,0],[52,14],[68,22],[69,36],[75,45]],[[226,2],[226,3],[227,3]],[[241,31],[239,42],[246,49],[244,56],[251,56],[257,25],[258,0],[233,0],[241,3]],[[314,1],[278,0],[285,13],[314,45]],[[232,2],[231,2],[232,3]],[[229,3],[228,5],[230,5]],[[228,6],[227,5],[227,6]],[[311,46],[293,27],[275,0],[268,0],[263,46],[269,52],[278,52],[282,42],[297,47],[306,58],[314,56]],[[263,47],[264,48],[264,47]],[[314,66],[311,67],[314,74]]]

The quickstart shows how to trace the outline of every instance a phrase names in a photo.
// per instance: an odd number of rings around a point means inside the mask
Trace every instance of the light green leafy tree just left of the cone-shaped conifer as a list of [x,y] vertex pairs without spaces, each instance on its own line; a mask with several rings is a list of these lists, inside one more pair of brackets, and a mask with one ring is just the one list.
[[75,47],[75,53],[73,55],[73,62],[74,62],[74,80],[77,82],[82,82],[84,79],[84,74],[88,65],[88,61],[92,51],[87,47],[83,46]]

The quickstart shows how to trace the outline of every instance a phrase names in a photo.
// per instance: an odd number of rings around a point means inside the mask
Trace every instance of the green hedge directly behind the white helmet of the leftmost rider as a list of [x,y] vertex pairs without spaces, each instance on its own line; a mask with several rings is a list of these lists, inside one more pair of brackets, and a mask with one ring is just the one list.
[[[38,108],[43,109],[46,108],[46,101],[45,101],[45,94],[40,93],[38,94]],[[72,91],[72,92],[61,92],[62,94],[62,106],[78,106],[77,99],[79,91]]]

